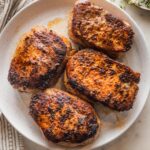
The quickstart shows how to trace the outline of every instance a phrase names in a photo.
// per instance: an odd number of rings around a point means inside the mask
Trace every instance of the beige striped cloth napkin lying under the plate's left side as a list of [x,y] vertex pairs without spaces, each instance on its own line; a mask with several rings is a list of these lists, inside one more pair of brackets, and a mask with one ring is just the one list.
[[[0,0],[0,32],[23,6],[33,0]],[[0,150],[24,150],[22,136],[0,112]]]

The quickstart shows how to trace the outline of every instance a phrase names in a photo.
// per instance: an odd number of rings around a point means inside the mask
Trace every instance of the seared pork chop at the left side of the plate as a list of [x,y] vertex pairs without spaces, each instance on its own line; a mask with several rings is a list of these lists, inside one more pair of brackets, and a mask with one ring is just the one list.
[[44,26],[26,33],[16,48],[8,80],[14,88],[31,92],[56,83],[67,62],[70,42]]

